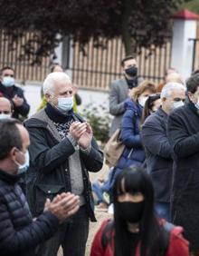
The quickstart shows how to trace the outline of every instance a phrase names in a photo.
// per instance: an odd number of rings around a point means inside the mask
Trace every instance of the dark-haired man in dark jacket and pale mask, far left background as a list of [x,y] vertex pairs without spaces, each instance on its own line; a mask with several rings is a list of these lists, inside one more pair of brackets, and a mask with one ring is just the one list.
[[12,117],[24,120],[30,111],[30,105],[25,100],[23,90],[14,84],[12,67],[5,66],[1,70],[0,93],[14,104]]

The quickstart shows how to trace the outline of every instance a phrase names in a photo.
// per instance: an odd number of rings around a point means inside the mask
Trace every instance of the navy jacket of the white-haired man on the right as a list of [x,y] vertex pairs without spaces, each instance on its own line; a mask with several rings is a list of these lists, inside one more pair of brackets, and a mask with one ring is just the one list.
[[147,172],[154,184],[156,202],[170,202],[171,196],[173,159],[166,126],[167,114],[159,108],[147,117],[141,130]]

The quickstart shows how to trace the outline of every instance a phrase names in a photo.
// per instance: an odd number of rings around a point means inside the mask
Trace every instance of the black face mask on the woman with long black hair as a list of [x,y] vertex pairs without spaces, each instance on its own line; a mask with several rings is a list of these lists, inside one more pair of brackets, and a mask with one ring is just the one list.
[[139,222],[143,216],[145,202],[118,202],[118,214],[126,222]]

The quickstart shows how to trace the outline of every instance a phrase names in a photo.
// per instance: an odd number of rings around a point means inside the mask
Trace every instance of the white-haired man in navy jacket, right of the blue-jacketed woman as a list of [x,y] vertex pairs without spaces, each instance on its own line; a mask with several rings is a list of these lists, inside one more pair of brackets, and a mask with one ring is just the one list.
[[166,134],[167,118],[172,110],[184,105],[185,90],[183,84],[166,84],[161,92],[161,106],[156,113],[147,117],[141,131],[147,171],[155,188],[155,210],[167,221],[170,221],[173,169],[172,149]]

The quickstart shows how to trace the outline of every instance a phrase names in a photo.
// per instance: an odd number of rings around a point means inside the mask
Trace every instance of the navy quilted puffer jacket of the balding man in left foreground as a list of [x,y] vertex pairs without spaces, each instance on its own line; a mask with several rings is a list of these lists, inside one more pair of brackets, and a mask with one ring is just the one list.
[[36,245],[58,229],[58,219],[44,212],[32,220],[18,177],[0,170],[0,255],[32,256]]

